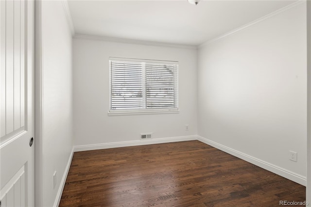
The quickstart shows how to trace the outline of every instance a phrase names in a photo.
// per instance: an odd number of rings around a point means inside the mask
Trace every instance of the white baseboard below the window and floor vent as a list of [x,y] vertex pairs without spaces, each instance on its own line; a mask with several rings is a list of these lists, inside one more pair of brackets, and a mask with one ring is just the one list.
[[138,145],[146,145],[146,144],[160,144],[160,143],[168,143],[168,142],[176,142],[176,141],[190,141],[190,140],[197,140],[197,136],[153,138],[153,139],[146,139],[146,140],[133,140],[133,141],[108,142],[108,143],[101,143],[101,144],[79,145],[79,146],[74,146],[74,152],[81,152],[81,151],[87,151],[87,150],[101,150],[101,149],[116,148],[116,147],[130,147],[130,146],[138,146]]

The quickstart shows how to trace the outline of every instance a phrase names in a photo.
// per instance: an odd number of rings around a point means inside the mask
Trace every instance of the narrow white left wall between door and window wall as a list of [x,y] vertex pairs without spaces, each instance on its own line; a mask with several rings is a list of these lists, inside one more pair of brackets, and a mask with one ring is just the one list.
[[41,5],[42,206],[51,207],[58,199],[73,146],[72,37],[62,2],[41,1]]

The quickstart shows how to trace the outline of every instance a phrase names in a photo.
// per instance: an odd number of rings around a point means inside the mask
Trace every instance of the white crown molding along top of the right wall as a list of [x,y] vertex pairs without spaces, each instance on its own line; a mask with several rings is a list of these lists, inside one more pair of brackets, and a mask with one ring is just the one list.
[[236,28],[236,29],[234,29],[234,30],[231,30],[231,31],[228,32],[228,33],[225,33],[225,34],[223,34],[223,35],[219,35],[219,36],[217,36],[217,37],[215,37],[215,38],[213,38],[213,39],[211,39],[211,40],[208,40],[208,41],[206,41],[206,42],[204,42],[204,43],[198,45],[197,48],[198,48],[198,49],[203,48],[203,47],[207,46],[208,44],[210,44],[210,43],[212,43],[212,42],[218,41],[218,40],[223,39],[223,38],[225,38],[225,37],[228,37],[228,36],[230,36],[230,35],[234,35],[234,34],[240,32],[240,31],[242,31],[242,30],[244,30],[244,29],[246,29],[246,28],[248,28],[248,27],[251,27],[251,26],[253,26],[253,25],[255,25],[255,24],[257,24],[257,23],[259,23],[259,22],[261,22],[261,21],[263,21],[263,20],[265,20],[265,19],[268,19],[268,18],[270,18],[270,17],[273,17],[273,16],[275,16],[275,15],[277,15],[277,14],[279,14],[279,13],[282,13],[282,12],[284,12],[284,11],[287,11],[287,10],[289,10],[289,9],[291,9],[291,8],[297,6],[297,5],[300,5],[300,4],[302,4],[302,3],[305,3],[305,2],[306,2],[306,0],[297,0],[296,2],[291,3],[291,4],[289,4],[289,5],[287,5],[287,6],[283,7],[283,8],[280,8],[280,9],[278,9],[278,10],[276,10],[276,11],[274,11],[274,12],[268,14],[268,15],[265,15],[265,16],[263,16],[263,17],[260,17],[260,18],[254,20],[254,21],[251,21],[251,22],[249,22],[249,23],[247,23],[247,24],[245,24],[245,25],[243,25],[243,26],[241,26],[241,27],[238,27],[238,28]]

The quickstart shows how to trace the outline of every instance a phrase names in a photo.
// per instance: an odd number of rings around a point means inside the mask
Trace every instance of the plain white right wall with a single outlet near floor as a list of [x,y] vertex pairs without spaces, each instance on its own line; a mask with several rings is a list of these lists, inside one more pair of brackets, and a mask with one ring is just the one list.
[[305,177],[306,60],[305,2],[202,46],[198,134]]

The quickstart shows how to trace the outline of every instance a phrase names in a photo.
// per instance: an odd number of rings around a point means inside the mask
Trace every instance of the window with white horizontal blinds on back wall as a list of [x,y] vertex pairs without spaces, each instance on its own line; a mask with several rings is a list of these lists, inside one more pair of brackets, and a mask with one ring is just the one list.
[[178,110],[178,62],[109,58],[110,111]]

